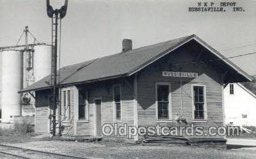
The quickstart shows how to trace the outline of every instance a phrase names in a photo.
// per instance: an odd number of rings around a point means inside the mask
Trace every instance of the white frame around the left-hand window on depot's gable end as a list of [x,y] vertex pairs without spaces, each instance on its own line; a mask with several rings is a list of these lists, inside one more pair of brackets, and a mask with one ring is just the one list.
[[[168,95],[168,99],[169,99],[169,105],[168,105],[168,109],[169,109],[169,119],[168,120],[158,120],[158,94],[157,94],[157,86],[158,85],[167,85],[169,86],[169,95]],[[156,122],[172,122],[172,97],[171,97],[171,85],[170,82],[156,82],[155,83],[155,106],[156,106]]]

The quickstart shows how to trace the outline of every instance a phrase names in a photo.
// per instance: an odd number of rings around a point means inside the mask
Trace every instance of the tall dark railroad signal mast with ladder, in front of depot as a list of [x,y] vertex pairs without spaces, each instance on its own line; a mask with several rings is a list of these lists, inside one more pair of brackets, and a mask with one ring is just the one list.
[[[51,95],[51,108],[52,108],[52,135],[56,135],[56,107],[57,107],[57,25],[58,18],[61,20],[66,15],[68,8],[68,0],[65,0],[64,6],[60,9],[54,10],[50,6],[50,1],[47,0],[47,15],[52,18],[52,69],[51,69],[51,80],[50,80],[50,95]],[[55,21],[55,22],[54,22]],[[60,109],[61,106],[59,106]],[[60,115],[60,114],[59,114]],[[61,135],[61,122],[59,121],[59,134]]]

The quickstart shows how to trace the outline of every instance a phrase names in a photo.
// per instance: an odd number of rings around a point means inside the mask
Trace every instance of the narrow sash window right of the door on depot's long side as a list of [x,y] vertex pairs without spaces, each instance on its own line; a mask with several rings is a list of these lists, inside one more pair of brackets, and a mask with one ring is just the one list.
[[116,120],[121,120],[121,86],[114,86],[114,106]]

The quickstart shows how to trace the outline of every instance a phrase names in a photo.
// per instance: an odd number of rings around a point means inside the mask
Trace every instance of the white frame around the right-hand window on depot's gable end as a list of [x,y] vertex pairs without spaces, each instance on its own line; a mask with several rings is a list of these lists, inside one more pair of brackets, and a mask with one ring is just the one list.
[[[204,119],[202,120],[196,120],[195,119],[195,105],[194,105],[194,93],[193,93],[193,86],[204,86]],[[192,84],[191,85],[191,97],[192,97],[192,116],[193,116],[193,122],[207,122],[208,115],[207,115],[207,94],[206,94],[206,85],[202,84]]]

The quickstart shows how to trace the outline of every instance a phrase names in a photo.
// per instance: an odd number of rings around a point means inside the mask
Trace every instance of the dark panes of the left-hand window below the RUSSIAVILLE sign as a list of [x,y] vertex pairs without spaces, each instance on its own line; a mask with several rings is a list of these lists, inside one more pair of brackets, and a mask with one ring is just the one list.
[[156,85],[156,99],[157,99],[157,118],[158,120],[169,120],[169,84],[166,85]]

